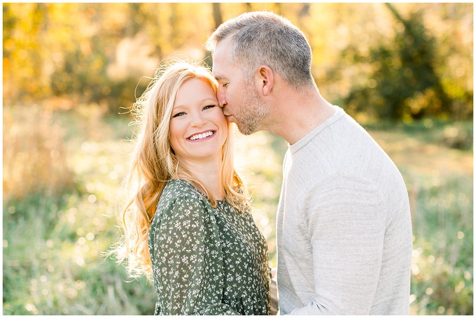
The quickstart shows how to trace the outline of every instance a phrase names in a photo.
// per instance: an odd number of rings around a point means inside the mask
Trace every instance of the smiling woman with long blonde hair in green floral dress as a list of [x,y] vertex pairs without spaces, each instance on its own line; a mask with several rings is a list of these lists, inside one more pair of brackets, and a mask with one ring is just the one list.
[[[146,274],[155,315],[268,315],[267,243],[233,166],[233,124],[203,66],[178,62],[137,100],[140,131],[121,261]],[[118,253],[119,254],[119,253]]]

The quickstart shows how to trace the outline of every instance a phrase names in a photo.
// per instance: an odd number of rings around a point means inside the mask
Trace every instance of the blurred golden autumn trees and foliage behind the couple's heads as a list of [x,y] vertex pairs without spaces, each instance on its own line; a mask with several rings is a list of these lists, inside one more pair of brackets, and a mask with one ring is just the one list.
[[162,59],[207,58],[211,32],[246,10],[297,24],[319,89],[349,112],[472,117],[471,3],[3,3],[4,101],[117,115]]

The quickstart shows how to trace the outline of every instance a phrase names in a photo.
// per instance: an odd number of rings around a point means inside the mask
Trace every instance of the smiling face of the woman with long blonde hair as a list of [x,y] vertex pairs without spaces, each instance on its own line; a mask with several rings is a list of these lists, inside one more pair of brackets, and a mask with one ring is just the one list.
[[228,123],[211,85],[187,80],[177,92],[170,119],[170,144],[179,159],[207,162],[221,159]]

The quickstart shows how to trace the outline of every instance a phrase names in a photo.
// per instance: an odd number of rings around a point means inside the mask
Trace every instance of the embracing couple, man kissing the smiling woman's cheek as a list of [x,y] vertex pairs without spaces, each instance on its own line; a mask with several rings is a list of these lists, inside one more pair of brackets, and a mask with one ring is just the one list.
[[[311,75],[300,29],[267,12],[207,41],[213,73],[177,62],[135,106],[139,133],[116,251],[146,274],[156,315],[408,315],[412,225],[398,168]],[[278,295],[267,243],[234,167],[235,123],[288,142],[277,211]],[[274,306],[273,306],[274,307]]]

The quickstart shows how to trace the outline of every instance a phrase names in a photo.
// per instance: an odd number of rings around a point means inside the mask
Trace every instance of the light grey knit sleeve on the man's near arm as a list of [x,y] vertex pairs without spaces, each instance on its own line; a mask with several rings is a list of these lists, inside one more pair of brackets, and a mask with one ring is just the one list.
[[315,294],[292,315],[370,315],[386,229],[386,206],[363,178],[332,175],[307,198]]

